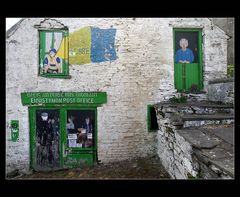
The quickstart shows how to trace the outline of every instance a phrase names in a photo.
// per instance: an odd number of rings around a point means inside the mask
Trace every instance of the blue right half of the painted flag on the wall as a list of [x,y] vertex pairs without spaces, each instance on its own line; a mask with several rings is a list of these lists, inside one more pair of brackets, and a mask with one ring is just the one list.
[[116,29],[100,29],[91,27],[91,62],[116,60]]

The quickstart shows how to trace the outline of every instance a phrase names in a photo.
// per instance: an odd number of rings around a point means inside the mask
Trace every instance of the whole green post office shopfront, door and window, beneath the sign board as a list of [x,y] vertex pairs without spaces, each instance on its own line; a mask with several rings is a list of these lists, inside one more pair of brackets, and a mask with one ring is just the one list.
[[29,107],[30,166],[79,168],[97,161],[96,107]]

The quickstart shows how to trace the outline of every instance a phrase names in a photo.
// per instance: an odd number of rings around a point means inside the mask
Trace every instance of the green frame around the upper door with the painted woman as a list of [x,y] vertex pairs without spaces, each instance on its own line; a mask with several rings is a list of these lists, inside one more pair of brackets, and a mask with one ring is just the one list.
[[[175,65],[175,55],[176,55],[176,32],[198,32],[198,58],[199,58],[199,89],[202,90],[203,87],[203,51],[202,51],[202,30],[203,28],[173,28],[173,63]],[[175,66],[174,66],[174,87],[176,88],[175,81]]]

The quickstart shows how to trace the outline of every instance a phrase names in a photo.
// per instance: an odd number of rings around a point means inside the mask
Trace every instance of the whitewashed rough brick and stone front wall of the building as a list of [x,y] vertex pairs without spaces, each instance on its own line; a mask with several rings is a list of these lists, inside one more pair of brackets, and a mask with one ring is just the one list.
[[[29,164],[29,125],[27,107],[21,105],[20,93],[27,91],[106,91],[108,103],[98,108],[98,156],[103,162],[145,156],[156,151],[156,133],[147,131],[147,104],[154,104],[176,93],[174,89],[172,27],[206,27],[204,53],[206,79],[216,76],[215,67],[224,70],[226,44],[217,38],[207,19],[168,18],[60,18],[69,32],[86,26],[116,28],[117,60],[70,65],[71,79],[50,79],[38,74],[38,30],[33,26],[43,19],[26,19],[7,39],[7,113],[6,124],[19,119],[19,142],[7,141],[7,166],[27,168]],[[191,27],[192,27],[191,26]],[[218,33],[218,34],[217,34]],[[208,34],[216,34],[208,35]],[[220,35],[221,38],[223,37]],[[224,37],[223,37],[224,38]],[[222,52],[217,51],[223,50]],[[214,67],[215,66],[215,67]],[[212,67],[212,68],[208,68]],[[219,72],[222,74],[222,72]],[[14,103],[14,105],[13,105]],[[6,126],[7,138],[10,129]],[[10,169],[10,168],[8,168]]]

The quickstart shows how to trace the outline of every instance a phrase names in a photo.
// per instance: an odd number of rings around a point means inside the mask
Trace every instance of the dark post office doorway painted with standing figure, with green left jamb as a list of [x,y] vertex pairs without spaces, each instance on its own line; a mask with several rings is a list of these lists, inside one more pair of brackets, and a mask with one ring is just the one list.
[[31,167],[36,171],[61,167],[60,111],[51,108],[30,108]]

